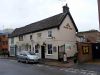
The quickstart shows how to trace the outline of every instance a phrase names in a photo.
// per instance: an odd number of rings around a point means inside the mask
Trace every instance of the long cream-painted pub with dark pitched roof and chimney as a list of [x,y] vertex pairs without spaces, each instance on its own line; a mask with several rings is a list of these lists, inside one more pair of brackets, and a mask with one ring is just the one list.
[[60,59],[77,52],[76,33],[78,29],[69,7],[63,6],[63,13],[44,20],[16,28],[9,36],[9,52],[15,56],[22,50],[29,50],[40,58]]

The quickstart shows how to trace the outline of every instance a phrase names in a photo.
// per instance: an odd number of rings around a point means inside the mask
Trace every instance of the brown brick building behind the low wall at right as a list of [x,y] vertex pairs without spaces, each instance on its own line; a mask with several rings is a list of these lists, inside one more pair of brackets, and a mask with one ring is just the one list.
[[77,35],[81,39],[80,42],[100,43],[100,32],[97,30],[78,32]]

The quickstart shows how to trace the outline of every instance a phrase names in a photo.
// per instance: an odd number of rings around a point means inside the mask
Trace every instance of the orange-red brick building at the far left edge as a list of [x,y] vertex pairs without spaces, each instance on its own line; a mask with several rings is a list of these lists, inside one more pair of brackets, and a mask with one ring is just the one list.
[[8,35],[0,34],[0,53],[8,52]]

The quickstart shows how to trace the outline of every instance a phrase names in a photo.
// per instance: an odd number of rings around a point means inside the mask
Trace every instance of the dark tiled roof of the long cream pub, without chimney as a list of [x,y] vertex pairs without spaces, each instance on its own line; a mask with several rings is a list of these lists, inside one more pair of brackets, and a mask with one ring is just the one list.
[[71,14],[70,13],[61,13],[61,14],[49,17],[47,19],[26,25],[24,27],[16,28],[12,32],[10,37],[15,37],[15,36],[24,35],[24,34],[28,34],[28,33],[32,33],[32,32],[38,32],[38,31],[42,31],[42,30],[46,30],[46,29],[50,29],[50,28],[59,27],[61,25],[62,21],[65,19],[66,15],[70,16],[76,31],[78,31]]

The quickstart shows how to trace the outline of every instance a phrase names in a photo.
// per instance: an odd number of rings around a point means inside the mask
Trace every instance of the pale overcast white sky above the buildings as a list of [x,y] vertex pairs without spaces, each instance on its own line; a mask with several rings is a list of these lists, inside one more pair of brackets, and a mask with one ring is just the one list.
[[99,30],[97,0],[0,0],[0,30],[62,13],[66,3],[79,31]]

